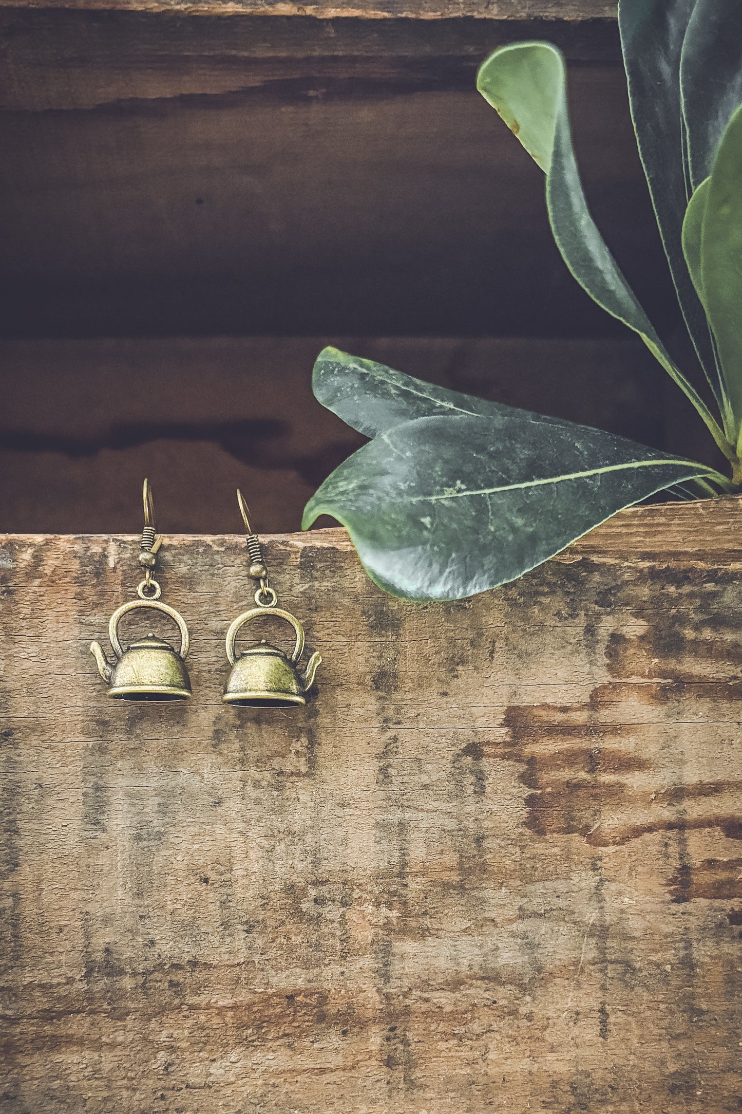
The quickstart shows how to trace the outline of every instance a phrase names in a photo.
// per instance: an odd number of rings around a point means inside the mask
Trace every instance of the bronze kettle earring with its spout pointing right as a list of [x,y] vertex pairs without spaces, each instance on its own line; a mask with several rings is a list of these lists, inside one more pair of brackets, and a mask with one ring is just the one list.
[[[295,704],[306,704],[306,693],[311,687],[321,657],[317,653],[313,654],[304,675],[298,673],[297,665],[304,652],[304,627],[289,612],[276,607],[278,596],[268,585],[263,546],[250,526],[250,512],[239,489],[237,502],[247,530],[247,551],[250,558],[248,575],[259,582],[255,593],[258,606],[238,615],[227,631],[227,658],[231,673],[222,700],[225,704],[237,704],[239,707],[291,707]],[[235,655],[235,639],[240,627],[264,615],[276,615],[294,627],[296,644],[290,657],[265,639],[246,649],[239,657]]]

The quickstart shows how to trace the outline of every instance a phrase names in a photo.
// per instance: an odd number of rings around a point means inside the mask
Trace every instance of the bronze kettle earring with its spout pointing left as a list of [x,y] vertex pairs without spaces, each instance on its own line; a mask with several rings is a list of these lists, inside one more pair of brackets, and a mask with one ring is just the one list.
[[[170,701],[187,700],[190,696],[190,681],[186,670],[185,658],[188,654],[188,627],[185,619],[174,607],[160,604],[160,586],[152,578],[157,564],[157,550],[162,544],[156,537],[155,506],[149,480],[145,480],[142,490],[145,504],[145,528],[141,531],[141,551],[139,564],[145,568],[145,579],[137,588],[139,599],[131,599],[113,612],[108,624],[108,638],[113,649],[113,665],[103,654],[97,642],[90,643],[90,653],[98,663],[98,672],[108,684],[108,695],[117,700],[151,700]],[[121,648],[118,627],[125,615],[140,608],[162,612],[178,624],[180,631],[180,651],[175,652],[167,642],[161,642],[154,634],[148,634],[140,642],[133,642],[126,651]]]

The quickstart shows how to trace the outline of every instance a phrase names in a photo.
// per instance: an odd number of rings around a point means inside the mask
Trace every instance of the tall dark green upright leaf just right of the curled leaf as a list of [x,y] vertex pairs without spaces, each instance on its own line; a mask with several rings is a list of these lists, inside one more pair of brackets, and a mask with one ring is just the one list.
[[[619,27],[639,152],[677,299],[709,383],[722,413],[726,413],[705,314],[685,267],[681,237],[692,187],[680,67],[695,2],[619,0]],[[711,79],[711,74],[708,77]]]

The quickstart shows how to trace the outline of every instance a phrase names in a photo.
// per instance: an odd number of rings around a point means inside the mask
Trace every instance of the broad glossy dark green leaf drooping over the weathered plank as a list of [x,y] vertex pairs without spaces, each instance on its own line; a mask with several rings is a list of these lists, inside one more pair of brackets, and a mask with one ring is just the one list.
[[[338,395],[330,408],[347,412],[348,395]],[[383,411],[369,411],[382,428]],[[515,579],[622,507],[704,476],[726,483],[703,465],[511,407],[434,413],[387,428],[349,457],[301,525],[319,515],[343,522],[372,578],[394,595],[458,599]]]

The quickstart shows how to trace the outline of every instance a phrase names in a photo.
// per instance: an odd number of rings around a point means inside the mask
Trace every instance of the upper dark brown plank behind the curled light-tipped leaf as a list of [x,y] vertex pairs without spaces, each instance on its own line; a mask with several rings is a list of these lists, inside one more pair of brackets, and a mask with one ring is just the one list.
[[596,218],[677,315],[610,21],[0,14],[4,335],[610,330],[475,90],[533,36],[575,60]]

